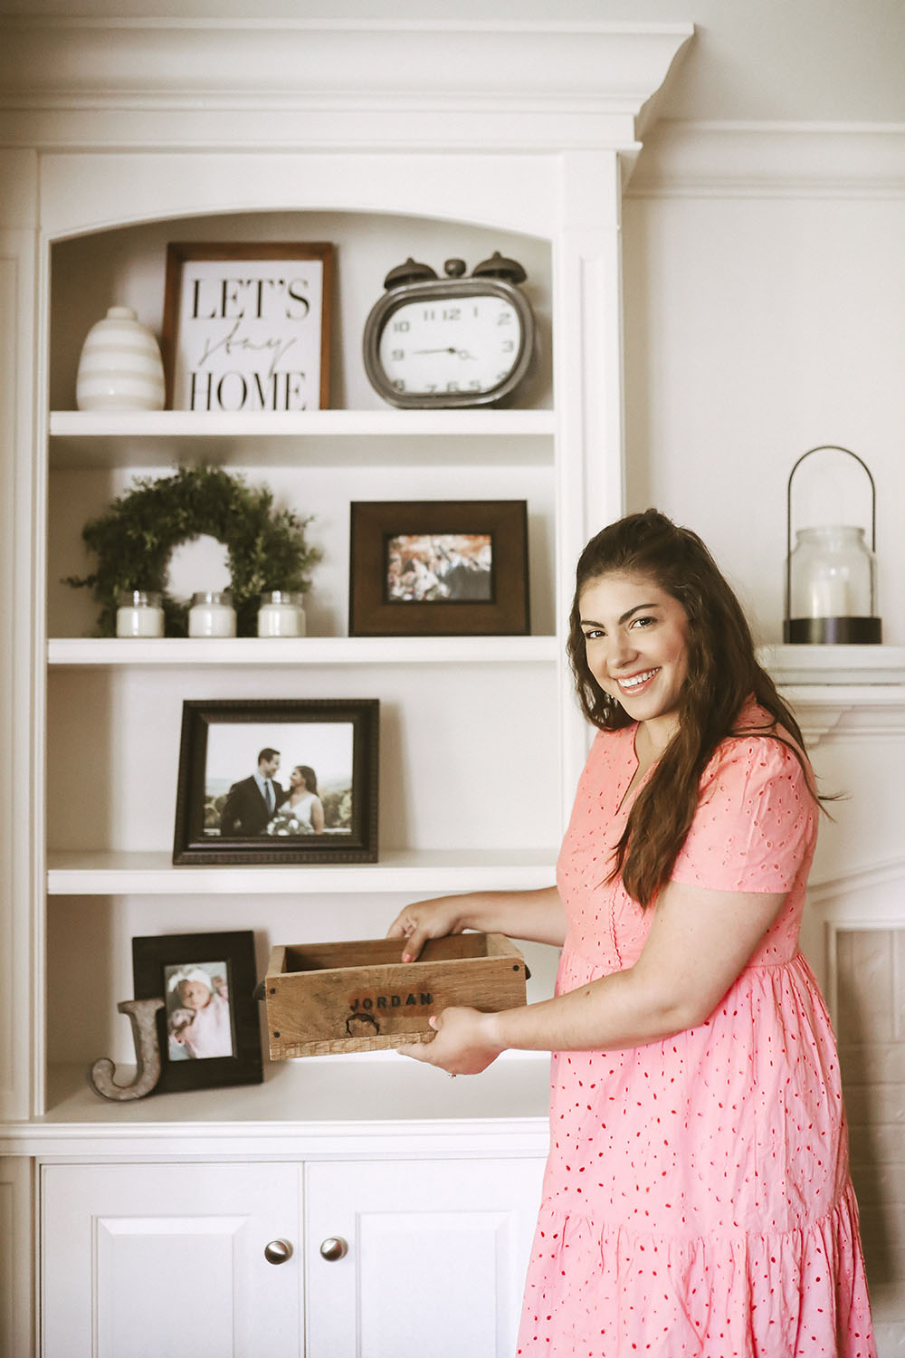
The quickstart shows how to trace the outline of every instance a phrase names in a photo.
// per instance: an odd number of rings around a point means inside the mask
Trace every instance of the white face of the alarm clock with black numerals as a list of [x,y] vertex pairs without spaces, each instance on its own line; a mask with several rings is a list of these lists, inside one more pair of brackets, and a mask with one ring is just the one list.
[[516,307],[503,296],[476,293],[403,303],[385,320],[377,352],[396,392],[441,401],[494,391],[521,349]]

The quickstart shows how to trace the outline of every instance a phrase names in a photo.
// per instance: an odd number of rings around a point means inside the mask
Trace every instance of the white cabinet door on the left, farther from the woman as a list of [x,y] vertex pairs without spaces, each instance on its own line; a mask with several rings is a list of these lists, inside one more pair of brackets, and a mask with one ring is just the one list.
[[303,1353],[297,1167],[46,1165],[42,1196],[42,1358]]

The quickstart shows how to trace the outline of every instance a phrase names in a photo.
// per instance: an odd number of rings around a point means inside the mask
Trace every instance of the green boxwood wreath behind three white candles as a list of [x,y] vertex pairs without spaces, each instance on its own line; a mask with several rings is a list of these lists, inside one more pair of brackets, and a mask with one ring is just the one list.
[[305,540],[311,519],[274,509],[266,486],[248,486],[221,467],[180,467],[171,477],[140,477],[106,513],[81,530],[98,568],[69,576],[75,589],[90,588],[100,604],[96,636],[115,637],[121,593],[155,589],[163,598],[164,631],[185,637],[189,604],[167,593],[167,569],[174,550],[204,534],[227,549],[236,631],[258,630],[259,596],[269,589],[307,591],[308,572],[320,551]]

